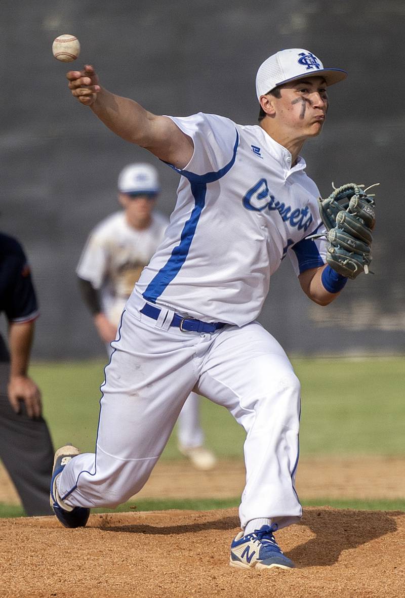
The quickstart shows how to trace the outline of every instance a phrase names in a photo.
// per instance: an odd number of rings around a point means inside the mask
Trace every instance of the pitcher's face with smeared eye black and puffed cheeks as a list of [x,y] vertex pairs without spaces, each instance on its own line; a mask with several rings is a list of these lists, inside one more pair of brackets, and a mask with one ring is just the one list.
[[281,126],[294,130],[302,138],[319,135],[328,111],[324,78],[307,77],[286,83],[273,105]]

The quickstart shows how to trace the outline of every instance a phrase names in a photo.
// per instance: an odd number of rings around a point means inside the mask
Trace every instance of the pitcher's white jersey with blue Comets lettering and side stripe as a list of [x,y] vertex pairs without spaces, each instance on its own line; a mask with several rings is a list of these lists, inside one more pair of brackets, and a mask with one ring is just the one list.
[[325,239],[306,239],[325,232],[318,188],[303,158],[291,166],[290,151],[260,126],[202,113],[169,118],[193,139],[194,153],[175,168],[175,210],[135,289],[192,318],[245,325],[285,255],[297,274],[325,263]]

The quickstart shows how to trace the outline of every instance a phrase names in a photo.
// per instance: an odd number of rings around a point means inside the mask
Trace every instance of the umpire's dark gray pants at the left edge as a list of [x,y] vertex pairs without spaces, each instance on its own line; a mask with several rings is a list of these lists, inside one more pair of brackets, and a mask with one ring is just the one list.
[[8,364],[0,363],[0,459],[27,515],[49,515],[53,446],[42,417],[30,419],[25,405],[13,411],[7,396]]

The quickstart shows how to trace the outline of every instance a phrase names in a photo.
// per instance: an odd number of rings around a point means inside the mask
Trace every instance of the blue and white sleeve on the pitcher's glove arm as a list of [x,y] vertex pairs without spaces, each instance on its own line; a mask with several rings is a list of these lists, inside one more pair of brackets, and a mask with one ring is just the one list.
[[297,276],[310,268],[324,266],[328,246],[326,235],[327,230],[319,216],[312,232],[288,249],[287,253]]

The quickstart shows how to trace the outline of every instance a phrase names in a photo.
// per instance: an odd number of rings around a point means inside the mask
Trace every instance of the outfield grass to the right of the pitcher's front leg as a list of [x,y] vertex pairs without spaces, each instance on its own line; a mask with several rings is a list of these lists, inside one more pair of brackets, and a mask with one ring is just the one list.
[[405,358],[300,359],[294,368],[303,453],[405,453]]

